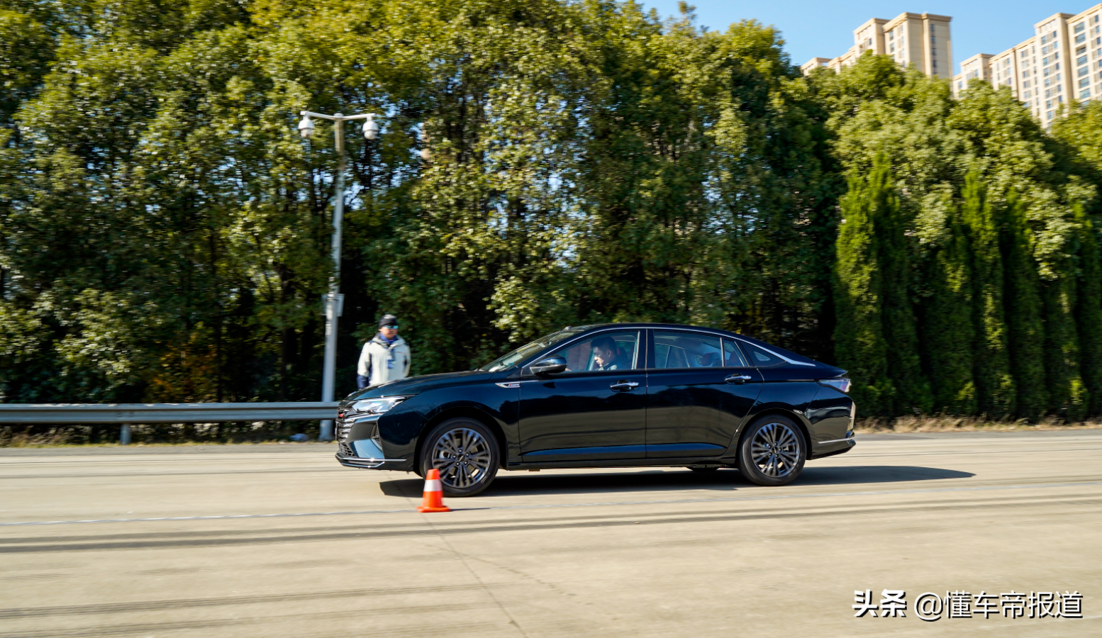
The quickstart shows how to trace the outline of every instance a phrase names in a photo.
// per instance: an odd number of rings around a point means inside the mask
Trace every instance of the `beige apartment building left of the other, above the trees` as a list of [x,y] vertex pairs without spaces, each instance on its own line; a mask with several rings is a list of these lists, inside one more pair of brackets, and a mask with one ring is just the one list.
[[812,57],[800,66],[804,74],[819,67],[841,71],[866,51],[890,55],[901,66],[914,64],[927,75],[952,76],[952,18],[932,13],[900,13],[892,20],[873,18],[853,30],[853,46],[833,58]]

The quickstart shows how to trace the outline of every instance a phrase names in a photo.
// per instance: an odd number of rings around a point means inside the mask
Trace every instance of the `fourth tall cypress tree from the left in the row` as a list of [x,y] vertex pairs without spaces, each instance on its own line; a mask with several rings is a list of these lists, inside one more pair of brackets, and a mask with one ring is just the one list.
[[964,176],[963,218],[972,249],[972,317],[976,347],[973,375],[981,413],[1012,414],[1016,405],[1003,313],[1003,259],[998,225],[980,175]]

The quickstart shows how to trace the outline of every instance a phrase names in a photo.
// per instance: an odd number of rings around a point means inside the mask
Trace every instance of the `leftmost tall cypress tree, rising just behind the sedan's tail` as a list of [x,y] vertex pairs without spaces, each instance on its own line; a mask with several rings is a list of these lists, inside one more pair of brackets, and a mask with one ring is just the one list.
[[890,414],[895,389],[888,378],[887,343],[880,317],[879,240],[874,226],[873,180],[853,170],[841,199],[835,244],[834,348],[854,381],[853,398],[867,415]]

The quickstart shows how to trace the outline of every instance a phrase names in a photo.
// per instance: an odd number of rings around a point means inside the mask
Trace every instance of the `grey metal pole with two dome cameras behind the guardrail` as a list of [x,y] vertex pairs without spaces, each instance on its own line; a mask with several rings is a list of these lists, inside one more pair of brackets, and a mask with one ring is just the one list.
[[[322,118],[333,122],[333,134],[336,137],[337,147],[337,174],[334,186],[333,203],[333,274],[329,277],[329,292],[325,294],[325,361],[322,368],[322,401],[332,402],[334,393],[334,382],[337,367],[337,317],[341,316],[344,295],[339,293],[337,278],[341,274],[341,223],[344,220],[344,173],[345,173],[345,149],[344,149],[344,123],[347,120],[366,120],[364,122],[364,137],[374,140],[379,137],[379,125],[375,123],[372,113],[361,113],[357,116],[346,116],[334,113],[327,116],[312,111],[302,111],[302,121],[299,122],[299,133],[304,139],[310,139],[314,134],[314,122],[310,118]],[[318,441],[333,440],[333,421],[322,421],[322,431],[317,435]]]

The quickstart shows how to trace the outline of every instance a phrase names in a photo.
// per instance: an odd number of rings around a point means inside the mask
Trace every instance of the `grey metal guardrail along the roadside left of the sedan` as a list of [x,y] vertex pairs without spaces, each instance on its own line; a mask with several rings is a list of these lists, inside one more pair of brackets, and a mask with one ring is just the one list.
[[0,403],[0,425],[53,423],[217,423],[336,419],[337,402]]

